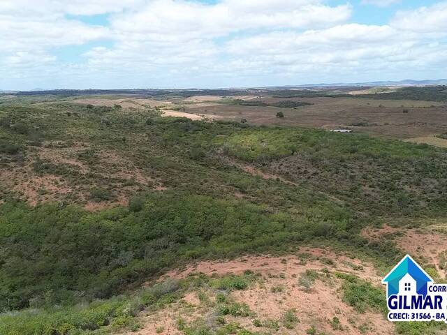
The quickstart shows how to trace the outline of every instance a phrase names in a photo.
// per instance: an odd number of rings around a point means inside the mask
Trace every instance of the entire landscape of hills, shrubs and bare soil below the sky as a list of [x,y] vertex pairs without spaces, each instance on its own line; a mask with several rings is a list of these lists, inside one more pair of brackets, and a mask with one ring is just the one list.
[[447,280],[443,91],[346,91],[0,100],[0,334],[444,334],[381,285]]

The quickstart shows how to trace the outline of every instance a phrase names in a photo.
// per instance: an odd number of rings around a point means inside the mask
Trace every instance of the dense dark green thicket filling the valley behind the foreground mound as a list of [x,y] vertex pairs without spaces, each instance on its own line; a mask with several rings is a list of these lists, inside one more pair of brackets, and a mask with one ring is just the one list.
[[284,250],[285,243],[349,230],[343,211],[319,216],[169,193],[100,214],[73,206],[3,204],[0,307],[110,297],[176,262]]

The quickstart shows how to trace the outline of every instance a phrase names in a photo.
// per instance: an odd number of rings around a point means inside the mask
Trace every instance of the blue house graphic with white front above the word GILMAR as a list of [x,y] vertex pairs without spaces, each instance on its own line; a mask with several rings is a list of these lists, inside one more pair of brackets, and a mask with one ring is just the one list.
[[427,295],[427,283],[433,279],[416,263],[410,255],[406,255],[394,267],[390,273],[383,278],[386,284],[386,296],[390,295]]

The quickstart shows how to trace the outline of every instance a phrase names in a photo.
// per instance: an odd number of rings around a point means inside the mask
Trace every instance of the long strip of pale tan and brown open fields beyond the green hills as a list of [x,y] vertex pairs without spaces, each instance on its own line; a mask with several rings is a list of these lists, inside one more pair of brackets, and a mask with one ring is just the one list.
[[[247,101],[265,104],[279,103],[284,98],[252,96]],[[434,101],[376,100],[368,98],[288,98],[312,105],[281,108],[284,118],[276,114],[278,107],[246,106],[220,103],[221,96],[191,96],[155,101],[141,98],[126,99],[74,99],[73,103],[105,105],[113,107],[144,109],[160,107],[165,115],[201,119],[240,121],[246,119],[251,124],[272,124],[277,126],[302,126],[309,128],[350,128],[360,133],[409,139],[447,131],[447,105]],[[181,110],[172,110],[173,106]],[[183,114],[182,114],[183,113]],[[197,116],[194,116],[197,115]],[[429,143],[431,144],[431,143]]]

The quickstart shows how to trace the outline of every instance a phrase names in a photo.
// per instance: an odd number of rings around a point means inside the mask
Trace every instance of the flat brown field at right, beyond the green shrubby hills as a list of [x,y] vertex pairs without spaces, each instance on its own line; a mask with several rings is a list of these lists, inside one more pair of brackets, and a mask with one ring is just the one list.
[[[327,125],[351,127],[357,132],[386,137],[413,138],[445,133],[447,106],[432,101],[395,101],[367,98],[262,98],[264,103],[305,101],[314,105],[293,108],[240,106],[216,103],[185,105],[192,114],[212,114],[251,124],[323,128]],[[408,112],[404,113],[403,110]],[[276,117],[283,112],[284,118]],[[353,126],[362,123],[365,126]]]

